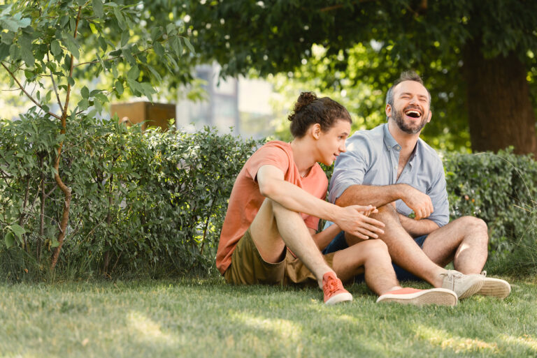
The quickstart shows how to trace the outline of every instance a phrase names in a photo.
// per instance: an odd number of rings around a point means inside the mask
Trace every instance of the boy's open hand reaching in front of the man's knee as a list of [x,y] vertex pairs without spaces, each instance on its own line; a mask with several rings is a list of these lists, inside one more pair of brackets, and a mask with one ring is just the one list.
[[337,218],[334,220],[341,230],[355,235],[360,239],[378,238],[378,234],[384,234],[382,228],[384,223],[368,217],[370,214],[378,213],[377,208],[368,205],[350,205],[339,207]]

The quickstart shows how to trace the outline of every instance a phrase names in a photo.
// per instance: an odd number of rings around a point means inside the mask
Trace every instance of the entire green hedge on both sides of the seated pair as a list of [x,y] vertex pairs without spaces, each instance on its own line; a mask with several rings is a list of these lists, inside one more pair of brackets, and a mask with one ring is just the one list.
[[[63,205],[52,177],[61,138],[53,122],[32,113],[0,124],[0,278],[50,274]],[[73,200],[57,273],[215,273],[227,199],[261,142],[211,128],[141,133],[88,118],[70,121],[65,140],[60,174]],[[488,268],[536,271],[537,163],[510,151],[443,159],[452,218],[475,215],[489,225]]]

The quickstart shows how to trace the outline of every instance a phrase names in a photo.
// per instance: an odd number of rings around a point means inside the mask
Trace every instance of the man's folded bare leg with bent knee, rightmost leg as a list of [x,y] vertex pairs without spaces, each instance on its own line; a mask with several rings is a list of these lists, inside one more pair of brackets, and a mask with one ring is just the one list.
[[464,216],[431,232],[423,243],[423,251],[441,267],[453,261],[457,271],[479,274],[487,261],[488,241],[487,224],[479,218]]

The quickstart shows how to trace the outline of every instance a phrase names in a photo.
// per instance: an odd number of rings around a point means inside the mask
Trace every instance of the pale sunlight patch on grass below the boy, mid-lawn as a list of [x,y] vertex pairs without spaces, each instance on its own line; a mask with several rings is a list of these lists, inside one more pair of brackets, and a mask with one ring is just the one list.
[[256,317],[255,315],[248,315],[247,313],[235,313],[232,317],[247,327],[270,331],[286,341],[297,342],[302,333],[301,325],[297,325],[289,320],[262,318]]

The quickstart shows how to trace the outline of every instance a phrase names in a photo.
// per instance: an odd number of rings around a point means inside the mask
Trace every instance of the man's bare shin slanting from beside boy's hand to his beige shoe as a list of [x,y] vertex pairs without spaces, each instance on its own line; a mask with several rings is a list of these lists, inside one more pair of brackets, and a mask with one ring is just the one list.
[[[413,238],[401,226],[392,204],[378,208],[378,213],[371,214],[371,217],[385,223],[384,234],[379,235],[379,239],[386,243],[389,255],[399,267],[423,278],[434,287],[442,287],[443,278],[440,274],[445,273],[445,269],[431,261],[420,246],[417,246]],[[345,238],[349,244],[353,244],[352,237],[346,235]]]

